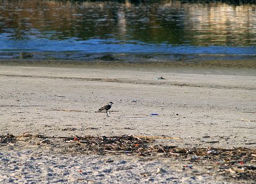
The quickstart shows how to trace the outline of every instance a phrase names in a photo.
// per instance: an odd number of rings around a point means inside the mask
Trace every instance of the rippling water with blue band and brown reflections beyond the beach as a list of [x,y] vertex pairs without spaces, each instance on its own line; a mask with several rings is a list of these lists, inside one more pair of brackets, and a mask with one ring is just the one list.
[[256,5],[0,1],[0,59],[255,59]]

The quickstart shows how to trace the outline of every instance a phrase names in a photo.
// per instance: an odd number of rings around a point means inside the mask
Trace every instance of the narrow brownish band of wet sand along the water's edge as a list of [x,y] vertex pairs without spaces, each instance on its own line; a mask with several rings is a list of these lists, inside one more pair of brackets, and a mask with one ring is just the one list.
[[124,62],[122,60],[0,60],[0,66],[56,67],[84,69],[144,70],[164,73],[213,73],[256,75],[254,59],[246,60],[143,60]]

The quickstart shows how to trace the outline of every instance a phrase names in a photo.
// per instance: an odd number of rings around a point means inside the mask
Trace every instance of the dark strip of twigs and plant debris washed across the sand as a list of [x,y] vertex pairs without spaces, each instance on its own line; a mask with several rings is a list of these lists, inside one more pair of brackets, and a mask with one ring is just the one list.
[[[30,137],[43,139],[42,144],[50,143],[49,139],[63,139],[63,143],[75,143],[81,146],[81,153],[96,153],[101,155],[126,154],[141,157],[176,157],[188,160],[191,164],[211,164],[219,169],[224,176],[243,180],[256,180],[256,149],[250,148],[179,148],[178,146],[154,145],[154,139],[138,138],[136,136],[84,136],[84,137],[47,137],[22,134],[13,136],[0,135],[0,146],[19,141],[19,138]],[[48,141],[45,141],[45,140]],[[78,144],[78,145],[77,145]],[[76,149],[77,150],[77,149]]]

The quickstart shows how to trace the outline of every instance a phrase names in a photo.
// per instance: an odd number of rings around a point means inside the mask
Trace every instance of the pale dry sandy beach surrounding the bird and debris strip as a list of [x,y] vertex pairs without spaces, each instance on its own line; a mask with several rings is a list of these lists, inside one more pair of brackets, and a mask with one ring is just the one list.
[[[256,69],[0,66],[0,83],[0,135],[126,134],[181,148],[256,148]],[[109,117],[97,113],[109,101]],[[184,169],[190,162],[177,158],[68,154],[60,140],[36,141],[1,145],[1,183],[255,182],[207,163]]]

